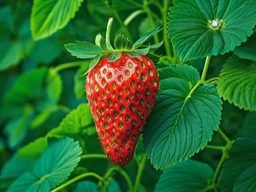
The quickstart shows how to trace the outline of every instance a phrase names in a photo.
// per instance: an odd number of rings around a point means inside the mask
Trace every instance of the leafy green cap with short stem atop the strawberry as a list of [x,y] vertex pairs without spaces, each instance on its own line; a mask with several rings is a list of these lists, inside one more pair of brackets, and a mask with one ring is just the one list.
[[129,38],[126,38],[122,33],[119,33],[114,40],[114,49],[110,41],[112,23],[113,18],[110,18],[106,29],[106,36],[103,37],[99,33],[95,38],[95,44],[87,41],[76,41],[75,44],[65,45],[65,48],[71,53],[71,55],[76,56],[77,58],[93,58],[89,66],[89,70],[84,75],[94,68],[99,60],[106,55],[109,55],[107,60],[110,62],[119,59],[123,52],[134,58],[140,58],[141,55],[158,57],[157,55],[150,53],[150,51],[154,51],[161,47],[163,41],[152,46],[149,43],[147,45],[143,44],[146,40],[150,39],[162,29],[158,27],[151,32],[145,33],[136,42],[134,42],[134,44],[132,44]]

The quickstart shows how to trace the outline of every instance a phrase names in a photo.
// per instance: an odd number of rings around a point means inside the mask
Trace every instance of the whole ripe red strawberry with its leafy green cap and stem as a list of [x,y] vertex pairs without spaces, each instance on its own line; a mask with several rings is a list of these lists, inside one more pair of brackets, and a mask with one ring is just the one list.
[[119,33],[114,49],[110,43],[112,22],[110,18],[106,38],[96,36],[96,45],[76,41],[65,47],[78,58],[93,58],[86,73],[86,94],[97,134],[106,156],[117,165],[125,165],[133,158],[159,90],[156,68],[147,56],[157,58],[150,51],[159,48],[163,41],[143,45],[159,28],[142,35],[133,45]]

